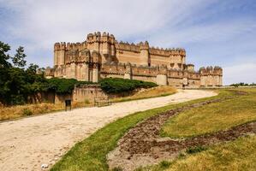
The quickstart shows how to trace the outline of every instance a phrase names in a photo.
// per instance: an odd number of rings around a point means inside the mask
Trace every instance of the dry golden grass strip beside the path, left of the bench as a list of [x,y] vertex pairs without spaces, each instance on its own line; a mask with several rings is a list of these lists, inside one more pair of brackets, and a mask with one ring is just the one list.
[[[72,108],[92,106],[92,103],[72,103]],[[16,119],[29,115],[40,115],[65,109],[64,104],[37,103],[0,107],[0,121]]]

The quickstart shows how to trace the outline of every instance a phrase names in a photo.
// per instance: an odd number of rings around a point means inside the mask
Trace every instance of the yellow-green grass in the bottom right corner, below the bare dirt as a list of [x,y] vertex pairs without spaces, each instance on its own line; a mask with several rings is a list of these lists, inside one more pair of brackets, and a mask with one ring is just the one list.
[[253,171],[256,168],[256,136],[212,145],[199,153],[182,153],[175,161],[138,168],[136,171]]

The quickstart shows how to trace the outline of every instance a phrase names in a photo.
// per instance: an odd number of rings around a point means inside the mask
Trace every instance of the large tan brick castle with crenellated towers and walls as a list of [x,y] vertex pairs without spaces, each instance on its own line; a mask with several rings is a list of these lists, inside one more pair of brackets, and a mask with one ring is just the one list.
[[152,81],[158,85],[206,87],[223,85],[219,67],[194,70],[186,64],[184,49],[159,49],[148,42],[117,42],[112,34],[94,32],[82,43],[54,44],[54,68],[47,78],[59,77],[98,82],[103,78]]

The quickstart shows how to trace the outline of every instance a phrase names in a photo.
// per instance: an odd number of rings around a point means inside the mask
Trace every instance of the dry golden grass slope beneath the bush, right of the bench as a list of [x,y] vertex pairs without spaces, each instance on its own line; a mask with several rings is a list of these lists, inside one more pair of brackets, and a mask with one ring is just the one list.
[[129,97],[114,98],[112,102],[126,102],[130,100],[139,100],[150,97],[164,97],[176,93],[176,88],[172,86],[157,86],[150,89],[143,89]]

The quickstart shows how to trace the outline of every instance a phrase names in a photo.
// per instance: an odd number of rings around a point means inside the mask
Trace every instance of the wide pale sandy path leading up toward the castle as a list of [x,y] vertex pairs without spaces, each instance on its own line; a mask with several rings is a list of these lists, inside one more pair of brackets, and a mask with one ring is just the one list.
[[213,91],[185,90],[168,97],[114,103],[101,108],[73,109],[0,123],[0,170],[42,170],[57,162],[75,143],[110,121],[169,103],[211,97]]

